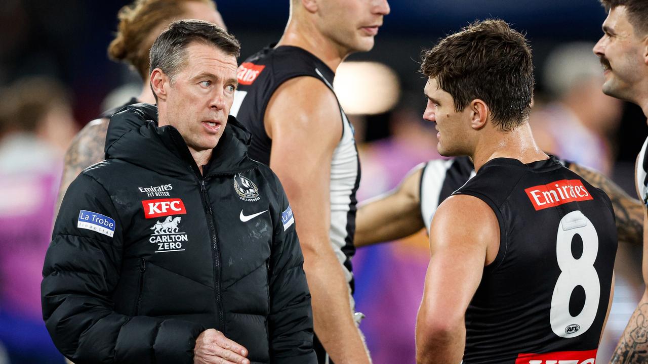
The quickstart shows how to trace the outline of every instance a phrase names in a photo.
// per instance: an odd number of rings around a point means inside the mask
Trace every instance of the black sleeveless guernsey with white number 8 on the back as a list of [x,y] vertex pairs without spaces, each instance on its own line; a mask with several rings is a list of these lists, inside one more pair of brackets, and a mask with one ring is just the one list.
[[551,157],[492,159],[454,194],[480,198],[500,224],[466,312],[463,363],[594,364],[617,247],[605,192]]

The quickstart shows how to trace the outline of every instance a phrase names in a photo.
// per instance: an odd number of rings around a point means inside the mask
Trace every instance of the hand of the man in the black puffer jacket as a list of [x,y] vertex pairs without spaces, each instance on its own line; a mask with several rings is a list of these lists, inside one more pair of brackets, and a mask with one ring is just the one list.
[[248,350],[213,328],[203,331],[196,339],[194,364],[249,364]]

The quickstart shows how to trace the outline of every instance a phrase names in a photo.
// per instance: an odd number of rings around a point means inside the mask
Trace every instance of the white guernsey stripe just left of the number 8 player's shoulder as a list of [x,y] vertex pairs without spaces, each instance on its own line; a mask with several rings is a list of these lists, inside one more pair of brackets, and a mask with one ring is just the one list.
[[449,161],[435,159],[434,161],[429,161],[423,170],[421,196],[419,197],[421,198],[421,216],[428,234],[430,234],[432,216],[434,216],[434,212],[439,207],[439,194],[441,194],[443,181],[445,181],[448,169],[450,169],[453,162],[453,159]]

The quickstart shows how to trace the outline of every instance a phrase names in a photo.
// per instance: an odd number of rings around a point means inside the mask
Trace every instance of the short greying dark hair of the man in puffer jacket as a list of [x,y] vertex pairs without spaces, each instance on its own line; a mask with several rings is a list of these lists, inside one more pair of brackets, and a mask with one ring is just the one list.
[[229,56],[240,55],[241,47],[237,38],[218,25],[195,19],[178,20],[171,23],[153,42],[149,72],[159,68],[173,80],[187,62],[187,45],[193,41],[213,45]]

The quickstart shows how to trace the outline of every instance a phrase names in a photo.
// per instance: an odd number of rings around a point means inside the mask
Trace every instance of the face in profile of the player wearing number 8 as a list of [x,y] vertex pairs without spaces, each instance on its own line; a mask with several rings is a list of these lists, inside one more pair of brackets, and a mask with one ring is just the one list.
[[439,154],[446,157],[469,155],[470,109],[455,111],[452,95],[439,87],[436,78],[428,79],[424,93],[428,104],[423,119],[436,124]]

